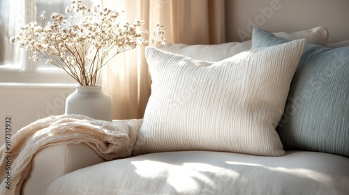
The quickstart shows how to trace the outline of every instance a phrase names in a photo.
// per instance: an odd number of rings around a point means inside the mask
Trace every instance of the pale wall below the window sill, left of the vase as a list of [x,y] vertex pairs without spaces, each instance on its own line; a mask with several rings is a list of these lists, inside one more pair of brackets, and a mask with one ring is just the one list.
[[0,85],[0,144],[5,142],[6,117],[11,118],[11,136],[39,118],[64,114],[65,100],[75,85]]

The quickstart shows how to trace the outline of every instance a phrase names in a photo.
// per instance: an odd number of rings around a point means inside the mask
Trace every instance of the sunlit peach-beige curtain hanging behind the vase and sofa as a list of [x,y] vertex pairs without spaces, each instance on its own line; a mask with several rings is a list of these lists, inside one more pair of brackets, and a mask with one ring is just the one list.
[[[224,1],[103,0],[103,7],[124,8],[126,20],[139,17],[150,34],[156,22],[165,24],[168,42],[206,45],[225,42]],[[142,118],[151,93],[144,47],[110,61],[103,69],[101,83],[104,93],[112,98],[113,119]]]

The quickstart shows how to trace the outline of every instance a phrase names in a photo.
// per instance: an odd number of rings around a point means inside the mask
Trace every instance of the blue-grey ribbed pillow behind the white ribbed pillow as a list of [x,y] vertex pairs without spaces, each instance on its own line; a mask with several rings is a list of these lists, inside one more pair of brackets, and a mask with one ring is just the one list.
[[[252,48],[288,42],[254,29]],[[349,157],[349,47],[307,44],[277,127],[285,150]]]

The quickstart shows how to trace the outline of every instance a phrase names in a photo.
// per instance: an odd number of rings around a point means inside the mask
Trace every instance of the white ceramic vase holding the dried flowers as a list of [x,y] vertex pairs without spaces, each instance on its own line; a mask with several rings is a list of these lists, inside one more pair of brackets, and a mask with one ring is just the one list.
[[112,121],[112,100],[102,92],[101,86],[77,86],[66,98],[66,114]]

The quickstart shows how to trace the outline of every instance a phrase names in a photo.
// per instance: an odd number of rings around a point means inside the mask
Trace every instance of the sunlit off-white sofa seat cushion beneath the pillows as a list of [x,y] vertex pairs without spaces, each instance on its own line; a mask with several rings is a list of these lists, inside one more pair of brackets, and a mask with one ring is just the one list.
[[349,194],[349,158],[286,151],[150,153],[61,176],[47,194]]

